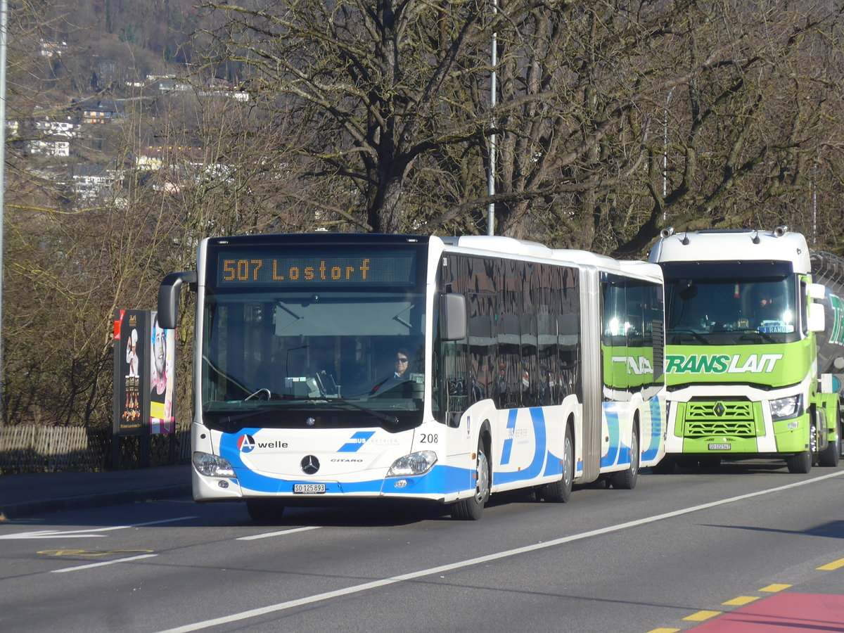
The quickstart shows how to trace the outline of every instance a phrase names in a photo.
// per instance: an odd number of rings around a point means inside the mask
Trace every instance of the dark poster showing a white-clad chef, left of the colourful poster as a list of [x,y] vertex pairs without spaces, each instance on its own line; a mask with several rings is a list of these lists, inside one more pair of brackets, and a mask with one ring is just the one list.
[[145,430],[149,311],[116,310],[114,315],[114,415],[116,436],[138,436]]

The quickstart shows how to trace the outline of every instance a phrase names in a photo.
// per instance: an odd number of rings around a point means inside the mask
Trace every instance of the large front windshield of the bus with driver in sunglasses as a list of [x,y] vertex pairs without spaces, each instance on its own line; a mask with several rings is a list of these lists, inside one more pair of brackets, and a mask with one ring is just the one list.
[[203,409],[419,411],[424,324],[425,295],[412,291],[209,289]]

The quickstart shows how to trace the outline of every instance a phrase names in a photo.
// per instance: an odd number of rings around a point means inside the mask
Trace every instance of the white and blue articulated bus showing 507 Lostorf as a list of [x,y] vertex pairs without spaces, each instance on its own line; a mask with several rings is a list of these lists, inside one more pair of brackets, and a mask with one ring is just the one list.
[[[284,506],[633,488],[664,454],[663,277],[496,236],[313,233],[202,241],[192,488]],[[403,362],[404,360],[407,362]]]

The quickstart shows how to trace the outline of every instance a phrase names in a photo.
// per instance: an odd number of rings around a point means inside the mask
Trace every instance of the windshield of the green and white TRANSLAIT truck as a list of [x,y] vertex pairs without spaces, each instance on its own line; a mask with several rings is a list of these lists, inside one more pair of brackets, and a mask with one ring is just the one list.
[[[664,268],[668,344],[787,343],[800,338],[793,274],[744,276],[735,274],[743,271],[734,265],[729,276],[710,277],[701,269],[694,276],[669,277],[674,271]],[[691,272],[685,268],[677,272]]]

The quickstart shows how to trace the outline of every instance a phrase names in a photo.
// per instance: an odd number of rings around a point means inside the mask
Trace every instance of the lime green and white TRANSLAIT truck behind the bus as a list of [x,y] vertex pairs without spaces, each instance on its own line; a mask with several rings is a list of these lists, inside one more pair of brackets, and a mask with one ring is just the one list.
[[818,345],[844,343],[844,310],[813,282],[805,237],[666,229],[649,261],[665,277],[668,436],[657,470],[757,457],[784,459],[791,473],[836,466],[839,385],[819,372]]

